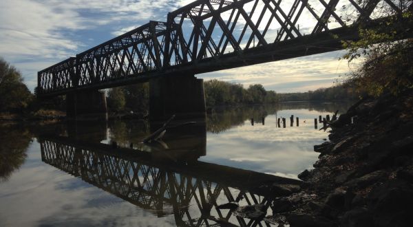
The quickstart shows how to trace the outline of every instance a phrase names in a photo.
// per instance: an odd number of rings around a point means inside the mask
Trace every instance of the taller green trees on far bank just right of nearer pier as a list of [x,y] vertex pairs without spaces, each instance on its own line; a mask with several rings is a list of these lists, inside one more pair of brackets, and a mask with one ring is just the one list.
[[204,89],[207,107],[278,102],[275,91],[266,91],[258,84],[244,89],[240,84],[213,79],[204,82]]

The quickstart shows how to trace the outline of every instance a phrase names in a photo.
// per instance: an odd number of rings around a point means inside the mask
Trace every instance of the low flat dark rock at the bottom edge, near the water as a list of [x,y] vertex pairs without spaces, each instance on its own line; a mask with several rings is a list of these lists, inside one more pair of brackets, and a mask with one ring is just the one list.
[[291,227],[332,227],[337,226],[325,217],[316,217],[308,214],[291,214],[287,217]]

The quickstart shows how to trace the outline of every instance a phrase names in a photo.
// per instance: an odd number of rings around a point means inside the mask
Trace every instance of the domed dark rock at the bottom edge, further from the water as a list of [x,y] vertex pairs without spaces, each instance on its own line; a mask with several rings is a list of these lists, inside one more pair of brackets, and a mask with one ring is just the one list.
[[347,211],[341,218],[341,226],[370,227],[374,226],[371,213],[367,208],[354,208]]

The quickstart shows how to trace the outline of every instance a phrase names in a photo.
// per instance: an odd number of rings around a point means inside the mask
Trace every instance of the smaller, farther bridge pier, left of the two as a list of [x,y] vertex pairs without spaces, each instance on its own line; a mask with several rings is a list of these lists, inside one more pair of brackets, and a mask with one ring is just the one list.
[[66,116],[72,120],[107,120],[105,93],[90,90],[67,94]]

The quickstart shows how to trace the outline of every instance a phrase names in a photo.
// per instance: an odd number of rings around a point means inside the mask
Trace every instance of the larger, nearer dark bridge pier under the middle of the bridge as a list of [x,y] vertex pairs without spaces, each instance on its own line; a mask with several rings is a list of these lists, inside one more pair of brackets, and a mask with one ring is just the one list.
[[149,81],[149,117],[152,120],[196,118],[205,115],[204,80],[193,74],[167,75]]

